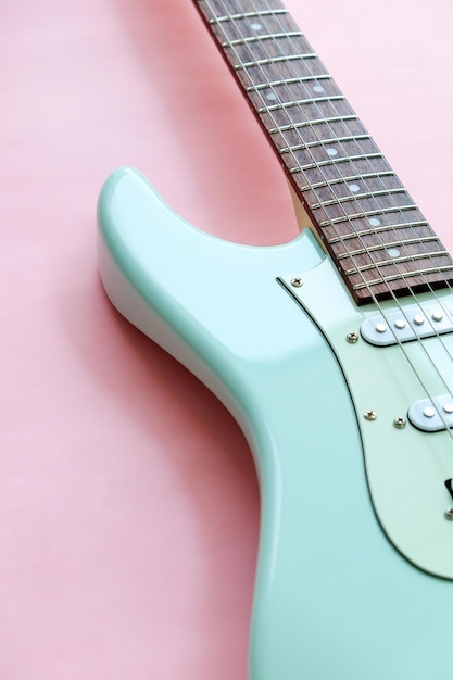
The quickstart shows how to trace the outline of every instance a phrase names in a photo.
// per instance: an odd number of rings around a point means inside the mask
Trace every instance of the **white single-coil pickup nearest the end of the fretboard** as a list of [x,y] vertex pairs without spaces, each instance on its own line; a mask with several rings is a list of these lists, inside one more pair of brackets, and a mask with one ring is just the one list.
[[389,347],[400,342],[431,338],[453,330],[452,312],[437,305],[400,307],[370,316],[361,326],[361,335],[370,344]]

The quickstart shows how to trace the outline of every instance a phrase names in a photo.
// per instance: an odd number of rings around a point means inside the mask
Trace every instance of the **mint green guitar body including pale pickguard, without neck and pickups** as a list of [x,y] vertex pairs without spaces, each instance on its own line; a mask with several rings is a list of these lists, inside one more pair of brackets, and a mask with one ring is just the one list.
[[273,248],[218,240],[128,168],[106,181],[99,224],[113,304],[218,396],[253,452],[250,680],[449,678],[451,436],[394,427],[418,378],[401,348],[345,339],[376,310],[352,303],[309,229]]

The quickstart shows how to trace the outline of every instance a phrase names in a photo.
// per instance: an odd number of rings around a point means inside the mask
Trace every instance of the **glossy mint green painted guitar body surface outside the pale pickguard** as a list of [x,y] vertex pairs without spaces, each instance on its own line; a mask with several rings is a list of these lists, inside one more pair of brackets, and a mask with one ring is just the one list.
[[113,304],[223,401],[256,462],[250,680],[441,680],[450,584],[410,565],[380,530],[342,372],[276,281],[323,261],[315,240],[256,249],[214,239],[127,168],[108,180],[99,223]]

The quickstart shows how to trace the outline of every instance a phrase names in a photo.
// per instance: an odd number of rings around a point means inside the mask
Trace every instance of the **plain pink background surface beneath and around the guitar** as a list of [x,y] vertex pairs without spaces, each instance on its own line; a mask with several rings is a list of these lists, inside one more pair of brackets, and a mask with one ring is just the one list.
[[[295,234],[191,5],[0,3],[2,680],[246,679],[248,448],[96,269],[97,196],[122,164],[217,236]],[[287,5],[452,250],[451,0]]]

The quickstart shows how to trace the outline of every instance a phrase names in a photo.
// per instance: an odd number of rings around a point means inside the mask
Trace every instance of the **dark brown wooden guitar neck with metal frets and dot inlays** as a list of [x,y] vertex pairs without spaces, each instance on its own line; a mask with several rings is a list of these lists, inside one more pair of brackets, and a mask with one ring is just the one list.
[[450,254],[279,0],[193,0],[356,304],[449,287]]

